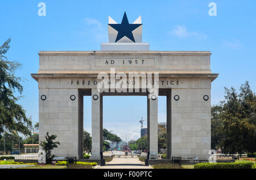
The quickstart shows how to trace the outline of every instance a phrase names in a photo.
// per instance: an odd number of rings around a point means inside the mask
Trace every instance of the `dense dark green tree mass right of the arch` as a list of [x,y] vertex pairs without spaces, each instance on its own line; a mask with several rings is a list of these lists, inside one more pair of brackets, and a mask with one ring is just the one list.
[[256,151],[256,96],[249,82],[240,93],[225,87],[225,100],[212,107],[212,148],[225,153]]

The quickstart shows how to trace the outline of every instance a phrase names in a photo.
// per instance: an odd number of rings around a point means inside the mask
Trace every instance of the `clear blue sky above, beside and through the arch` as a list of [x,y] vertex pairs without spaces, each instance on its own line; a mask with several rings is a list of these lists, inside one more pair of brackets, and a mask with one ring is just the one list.
[[[39,2],[46,3],[46,16],[38,16]],[[209,16],[210,2],[216,3],[217,16]],[[143,42],[150,43],[151,50],[210,50],[211,69],[220,74],[212,83],[212,104],[217,104],[224,97],[224,86],[238,89],[249,80],[253,91],[256,89],[255,7],[254,0],[1,0],[0,44],[12,38],[7,55],[23,64],[16,72],[27,79],[22,83],[24,97],[19,103],[33,122],[38,122],[38,83],[30,74],[39,68],[37,53],[100,50],[101,42],[108,41],[108,16],[120,23],[124,11],[130,23],[142,15]],[[164,121],[164,102],[164,98],[159,99],[159,121]],[[122,113],[113,117],[115,105],[120,103]],[[104,126],[136,138],[138,121],[146,117],[145,105],[143,97],[106,97]],[[90,114],[89,105],[85,112]],[[84,122],[90,131],[90,115],[85,115]]]

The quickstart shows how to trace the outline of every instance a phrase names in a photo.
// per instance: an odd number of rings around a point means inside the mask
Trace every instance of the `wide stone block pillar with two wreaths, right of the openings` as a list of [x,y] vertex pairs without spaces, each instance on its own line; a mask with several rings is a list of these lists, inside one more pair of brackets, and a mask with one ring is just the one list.
[[[208,100],[204,100],[204,96],[207,96]],[[172,156],[208,158],[210,89],[172,89],[171,98]]]

